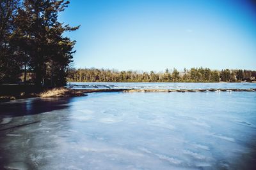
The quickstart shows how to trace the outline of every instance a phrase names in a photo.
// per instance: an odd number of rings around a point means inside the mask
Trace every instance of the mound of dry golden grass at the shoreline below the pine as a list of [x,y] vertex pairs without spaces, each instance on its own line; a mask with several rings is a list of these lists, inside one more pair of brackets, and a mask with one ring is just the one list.
[[42,92],[39,96],[40,97],[74,97],[74,96],[86,96],[86,94],[78,92],[76,90],[66,89],[61,87],[61,88],[54,88],[54,89]]

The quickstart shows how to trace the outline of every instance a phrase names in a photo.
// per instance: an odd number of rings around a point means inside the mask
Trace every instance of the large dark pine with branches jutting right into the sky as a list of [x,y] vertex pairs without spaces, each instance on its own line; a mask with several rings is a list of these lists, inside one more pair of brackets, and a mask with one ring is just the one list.
[[72,61],[72,51],[76,41],[63,37],[65,31],[75,31],[58,22],[58,13],[63,11],[68,1],[24,0],[15,24],[17,46],[29,56],[29,67],[35,71],[35,83],[42,85],[64,85],[68,64]]

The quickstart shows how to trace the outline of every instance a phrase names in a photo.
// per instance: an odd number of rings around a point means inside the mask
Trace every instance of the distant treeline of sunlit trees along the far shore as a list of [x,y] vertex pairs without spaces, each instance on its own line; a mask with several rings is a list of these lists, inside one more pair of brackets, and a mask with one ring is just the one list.
[[255,81],[256,71],[242,69],[211,70],[191,68],[178,71],[166,69],[164,73],[154,71],[116,71],[114,69],[69,69],[68,81],[74,82],[237,82]]

